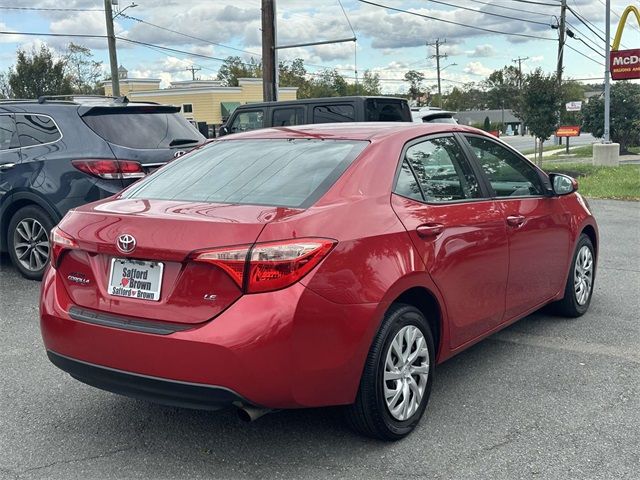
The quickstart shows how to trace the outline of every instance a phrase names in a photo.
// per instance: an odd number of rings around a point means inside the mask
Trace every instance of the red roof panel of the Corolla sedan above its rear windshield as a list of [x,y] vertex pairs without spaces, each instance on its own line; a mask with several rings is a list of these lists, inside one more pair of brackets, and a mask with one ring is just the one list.
[[483,133],[477,128],[451,123],[413,122],[344,122],[296,125],[294,127],[274,127],[236,133],[223,137],[224,140],[318,138],[322,140],[379,140],[389,136],[431,135],[447,132]]

